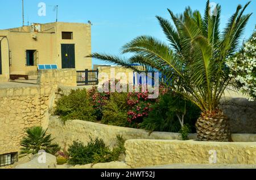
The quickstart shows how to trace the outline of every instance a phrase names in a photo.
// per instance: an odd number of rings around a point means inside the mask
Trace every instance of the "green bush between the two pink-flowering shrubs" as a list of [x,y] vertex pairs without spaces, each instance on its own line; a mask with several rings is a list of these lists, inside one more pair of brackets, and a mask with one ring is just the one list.
[[127,93],[112,93],[105,102],[101,122],[113,126],[129,126],[127,121]]

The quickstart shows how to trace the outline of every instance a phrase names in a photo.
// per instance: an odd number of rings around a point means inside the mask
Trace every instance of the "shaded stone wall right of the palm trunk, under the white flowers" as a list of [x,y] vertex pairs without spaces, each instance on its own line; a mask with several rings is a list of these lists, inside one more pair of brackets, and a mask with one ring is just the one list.
[[246,98],[222,98],[220,108],[229,118],[232,133],[256,133],[256,101]]

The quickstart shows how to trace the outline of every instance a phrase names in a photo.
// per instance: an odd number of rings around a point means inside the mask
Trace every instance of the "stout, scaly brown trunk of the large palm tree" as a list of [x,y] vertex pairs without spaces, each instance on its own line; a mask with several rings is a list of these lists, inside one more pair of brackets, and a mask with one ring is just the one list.
[[201,141],[232,141],[228,118],[220,109],[210,113],[201,113],[196,122],[196,131],[197,139]]

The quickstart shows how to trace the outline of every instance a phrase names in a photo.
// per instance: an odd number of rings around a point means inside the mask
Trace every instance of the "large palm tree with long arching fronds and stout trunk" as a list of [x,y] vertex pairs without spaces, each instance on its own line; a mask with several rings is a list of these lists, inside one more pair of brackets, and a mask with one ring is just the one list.
[[174,15],[168,9],[173,24],[156,16],[170,44],[151,36],[140,36],[123,46],[122,53],[133,53],[130,58],[94,53],[90,57],[112,62],[135,71],[131,63],[158,70],[172,81],[172,89],[191,100],[201,109],[196,122],[197,138],[206,141],[228,141],[230,130],[227,118],[218,103],[230,84],[226,58],[238,50],[240,37],[251,14],[243,15],[246,7],[237,6],[225,29],[220,32],[220,5],[210,15],[209,1],[204,16],[199,11],[185,8]]

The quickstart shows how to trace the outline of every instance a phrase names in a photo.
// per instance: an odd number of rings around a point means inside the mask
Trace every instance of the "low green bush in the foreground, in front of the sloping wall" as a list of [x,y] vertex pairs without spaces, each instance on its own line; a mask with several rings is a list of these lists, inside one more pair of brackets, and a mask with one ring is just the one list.
[[73,142],[68,148],[68,164],[84,165],[96,164],[99,162],[117,161],[119,156],[125,152],[124,140],[117,136],[117,145],[111,151],[102,139],[90,139],[87,145],[81,142]]

